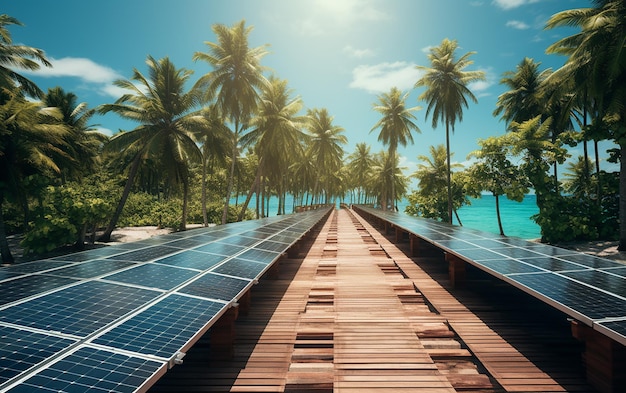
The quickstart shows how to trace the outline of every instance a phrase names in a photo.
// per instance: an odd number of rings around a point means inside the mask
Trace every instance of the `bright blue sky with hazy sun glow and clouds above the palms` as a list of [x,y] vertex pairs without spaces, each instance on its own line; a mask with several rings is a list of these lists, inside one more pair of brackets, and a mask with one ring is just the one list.
[[[499,82],[515,71],[524,57],[540,68],[559,68],[566,60],[547,55],[546,48],[575,33],[569,28],[545,30],[555,13],[591,6],[591,0],[19,0],[5,1],[1,13],[24,26],[11,26],[16,44],[45,51],[53,64],[23,72],[42,89],[61,86],[89,107],[113,103],[123,92],[116,79],[130,79],[133,70],[147,74],[147,56],[169,57],[178,68],[194,71],[190,83],[211,71],[194,62],[217,42],[214,24],[232,26],[245,20],[253,28],[251,47],[267,45],[262,65],[288,81],[305,108],[326,108],[334,124],[344,128],[346,154],[365,142],[376,153],[384,146],[372,127],[380,115],[372,107],[377,96],[397,87],[409,93],[421,133],[414,144],[400,147],[401,164],[410,174],[428,156],[429,147],[445,144],[445,127],[432,127],[426,104],[415,89],[417,65],[429,66],[429,49],[445,38],[456,40],[458,55],[475,52],[466,70],[482,70],[486,80],[470,86],[478,103],[463,110],[451,136],[453,161],[467,163],[477,141],[505,132],[493,116]],[[102,132],[114,135],[137,124],[115,114],[95,116]],[[603,152],[613,147],[606,143]],[[582,146],[571,150],[574,157]],[[603,168],[610,166],[602,162]]]

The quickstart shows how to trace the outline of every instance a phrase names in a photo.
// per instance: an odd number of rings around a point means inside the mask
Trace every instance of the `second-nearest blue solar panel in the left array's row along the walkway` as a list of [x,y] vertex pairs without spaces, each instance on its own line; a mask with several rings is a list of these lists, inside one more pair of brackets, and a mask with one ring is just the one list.
[[169,359],[184,351],[189,340],[202,333],[226,307],[224,303],[172,294],[93,342]]

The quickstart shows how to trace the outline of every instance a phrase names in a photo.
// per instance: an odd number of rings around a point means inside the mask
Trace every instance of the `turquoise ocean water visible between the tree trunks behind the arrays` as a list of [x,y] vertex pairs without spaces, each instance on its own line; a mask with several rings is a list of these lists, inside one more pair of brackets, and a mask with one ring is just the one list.
[[[478,199],[471,199],[471,205],[463,206],[459,209],[459,218],[463,226],[475,228],[481,231],[500,233],[498,230],[498,218],[496,216],[496,200],[493,195],[483,195]],[[234,203],[234,200],[232,201]],[[401,212],[408,204],[403,200],[398,204]],[[287,212],[291,212],[292,198],[287,197]],[[254,202],[249,206],[254,209]],[[270,199],[270,215],[276,214],[278,208],[278,198]],[[502,227],[507,236],[520,237],[522,239],[538,239],[541,237],[541,230],[530,217],[539,212],[535,195],[526,195],[522,202],[515,202],[500,197],[500,217]],[[455,219],[455,224],[458,224]]]

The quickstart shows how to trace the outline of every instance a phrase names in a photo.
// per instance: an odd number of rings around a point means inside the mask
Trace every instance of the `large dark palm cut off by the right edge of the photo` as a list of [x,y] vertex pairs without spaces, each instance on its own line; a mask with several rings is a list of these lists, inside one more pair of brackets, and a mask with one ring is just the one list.
[[[626,157],[626,4],[622,0],[594,0],[595,7],[563,11],[554,15],[547,28],[579,27],[580,32],[563,38],[549,50],[569,55],[567,64],[588,71],[590,90],[598,102],[599,123],[613,123],[607,136]],[[620,160],[620,245],[626,250],[626,160]]]

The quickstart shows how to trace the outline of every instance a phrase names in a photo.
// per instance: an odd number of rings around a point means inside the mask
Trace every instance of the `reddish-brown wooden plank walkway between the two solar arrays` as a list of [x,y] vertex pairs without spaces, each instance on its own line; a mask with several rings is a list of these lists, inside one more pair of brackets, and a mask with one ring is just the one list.
[[443,261],[399,247],[333,213],[303,258],[253,288],[232,359],[207,337],[152,391],[594,391],[576,341],[534,324],[558,315],[482,276],[478,293],[449,288]]

